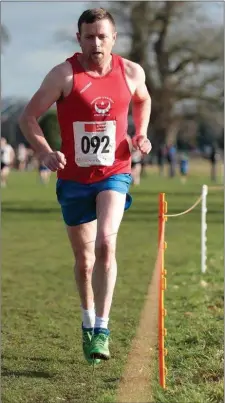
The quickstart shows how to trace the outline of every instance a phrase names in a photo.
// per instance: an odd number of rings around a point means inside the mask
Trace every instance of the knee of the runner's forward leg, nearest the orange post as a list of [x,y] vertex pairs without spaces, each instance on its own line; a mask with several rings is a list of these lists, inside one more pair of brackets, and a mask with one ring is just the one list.
[[112,260],[115,258],[116,245],[110,237],[102,237],[96,241],[95,256],[106,268],[110,268]]

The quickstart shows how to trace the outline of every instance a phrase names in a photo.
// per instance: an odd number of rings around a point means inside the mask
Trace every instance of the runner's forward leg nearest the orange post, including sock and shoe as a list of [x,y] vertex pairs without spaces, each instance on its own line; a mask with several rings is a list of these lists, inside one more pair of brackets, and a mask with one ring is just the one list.
[[94,335],[90,356],[108,360],[108,320],[116,283],[116,239],[124,213],[126,195],[114,190],[105,190],[97,196],[97,238],[93,290],[96,307]]

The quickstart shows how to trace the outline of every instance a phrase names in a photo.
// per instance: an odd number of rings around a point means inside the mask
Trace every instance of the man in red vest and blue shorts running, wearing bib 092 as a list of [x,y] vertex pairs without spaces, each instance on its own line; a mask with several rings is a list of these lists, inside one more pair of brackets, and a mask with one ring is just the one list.
[[[113,54],[113,17],[86,10],[78,20],[75,53],[54,67],[26,106],[20,128],[39,158],[57,171],[57,198],[75,257],[86,360],[107,360],[109,313],[117,275],[116,239],[131,205],[130,101],[133,146],[148,154],[151,100],[141,66]],[[37,120],[57,104],[62,146],[53,151]]]

